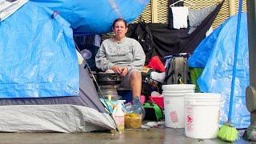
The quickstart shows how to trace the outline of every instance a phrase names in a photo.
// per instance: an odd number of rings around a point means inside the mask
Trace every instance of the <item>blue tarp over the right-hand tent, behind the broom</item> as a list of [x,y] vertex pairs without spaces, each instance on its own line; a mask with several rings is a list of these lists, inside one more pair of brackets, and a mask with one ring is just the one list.
[[[202,92],[222,94],[220,122],[226,122],[230,106],[230,90],[234,65],[234,46],[238,15],[230,17],[213,34],[205,38],[190,58],[190,66],[204,67],[198,85]],[[238,42],[237,75],[234,86],[234,107],[231,122],[237,128],[250,125],[246,108],[246,86],[250,84],[246,13],[242,14]]]

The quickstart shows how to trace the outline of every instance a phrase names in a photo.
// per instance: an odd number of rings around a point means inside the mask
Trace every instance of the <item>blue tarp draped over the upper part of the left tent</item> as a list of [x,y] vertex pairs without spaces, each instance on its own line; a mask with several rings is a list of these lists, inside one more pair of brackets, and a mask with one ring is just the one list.
[[27,2],[0,23],[0,98],[78,95],[72,29],[52,13]]

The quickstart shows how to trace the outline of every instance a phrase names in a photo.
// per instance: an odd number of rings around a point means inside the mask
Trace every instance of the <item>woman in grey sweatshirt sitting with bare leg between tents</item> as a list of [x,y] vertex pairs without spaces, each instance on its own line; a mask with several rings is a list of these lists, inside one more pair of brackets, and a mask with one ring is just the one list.
[[96,66],[102,71],[121,74],[122,86],[132,89],[133,98],[140,98],[140,70],[146,58],[142,46],[135,39],[126,37],[128,27],[124,19],[114,20],[112,30],[115,36],[102,42],[95,57]]

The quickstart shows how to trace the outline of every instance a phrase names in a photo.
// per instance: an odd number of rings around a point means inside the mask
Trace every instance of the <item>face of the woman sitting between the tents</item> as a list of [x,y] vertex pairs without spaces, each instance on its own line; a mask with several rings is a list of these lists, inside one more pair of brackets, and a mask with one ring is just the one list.
[[122,21],[115,22],[114,28],[113,28],[115,38],[117,38],[118,40],[121,40],[126,36],[127,30],[128,29],[126,27],[125,22],[122,22]]

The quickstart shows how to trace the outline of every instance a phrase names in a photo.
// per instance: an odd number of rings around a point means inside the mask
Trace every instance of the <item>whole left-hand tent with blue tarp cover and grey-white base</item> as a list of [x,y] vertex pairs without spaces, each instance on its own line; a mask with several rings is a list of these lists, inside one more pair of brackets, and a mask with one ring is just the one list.
[[0,131],[115,129],[78,65],[69,23],[52,14],[27,2],[0,24]]

